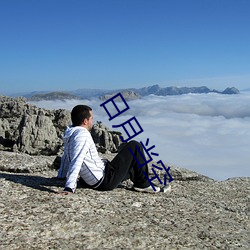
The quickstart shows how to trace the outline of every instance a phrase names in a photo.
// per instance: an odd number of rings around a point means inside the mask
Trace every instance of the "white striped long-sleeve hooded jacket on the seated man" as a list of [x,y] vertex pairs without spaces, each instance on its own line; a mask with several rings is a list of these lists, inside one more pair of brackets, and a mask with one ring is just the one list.
[[64,133],[64,154],[58,178],[67,177],[65,187],[76,189],[77,178],[95,185],[104,176],[105,163],[99,157],[90,132],[80,126],[67,127]]

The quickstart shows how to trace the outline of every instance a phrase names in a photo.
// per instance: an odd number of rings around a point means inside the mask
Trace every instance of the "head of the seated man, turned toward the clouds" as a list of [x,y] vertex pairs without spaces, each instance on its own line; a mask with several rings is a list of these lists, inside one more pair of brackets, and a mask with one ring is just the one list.
[[91,130],[93,126],[92,108],[87,105],[77,105],[71,111],[71,120],[73,127],[82,126]]

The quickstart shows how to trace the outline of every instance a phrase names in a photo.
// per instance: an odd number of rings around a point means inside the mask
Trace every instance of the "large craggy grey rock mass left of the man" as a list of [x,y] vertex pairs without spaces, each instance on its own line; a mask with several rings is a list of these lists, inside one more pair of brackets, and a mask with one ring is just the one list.
[[58,115],[53,111],[28,104],[24,98],[1,97],[0,115],[3,147],[50,155],[62,146],[62,127],[57,126]]

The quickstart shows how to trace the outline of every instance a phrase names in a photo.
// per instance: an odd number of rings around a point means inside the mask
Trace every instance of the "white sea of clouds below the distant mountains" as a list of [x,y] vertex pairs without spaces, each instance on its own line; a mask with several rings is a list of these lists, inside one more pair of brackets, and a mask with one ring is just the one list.
[[[103,101],[32,102],[47,109],[71,110],[77,104],[89,105],[95,121],[112,129],[136,117],[143,132],[134,139],[155,145],[155,160],[188,168],[216,180],[250,176],[250,92],[239,95],[187,94],[179,96],[150,95],[129,101],[129,110],[109,120],[100,107]],[[123,108],[123,103],[118,107]],[[112,105],[107,106],[115,114]],[[128,127],[127,127],[128,128]],[[134,123],[134,128],[139,128]],[[123,128],[115,128],[126,133]],[[129,132],[131,132],[129,130]],[[131,134],[133,134],[131,132]]]

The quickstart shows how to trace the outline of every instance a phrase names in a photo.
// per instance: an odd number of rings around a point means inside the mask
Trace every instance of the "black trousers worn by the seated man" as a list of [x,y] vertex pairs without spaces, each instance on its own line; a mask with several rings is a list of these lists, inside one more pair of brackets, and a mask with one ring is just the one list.
[[107,162],[104,179],[97,190],[112,190],[128,178],[133,181],[135,187],[145,188],[150,186],[150,183],[142,172],[144,171],[148,176],[147,164],[138,168],[138,163],[129,150],[129,148],[132,150],[136,159],[140,165],[142,165],[145,160],[142,158],[136,146],[145,158],[141,144],[137,141],[129,141],[111,162]]

